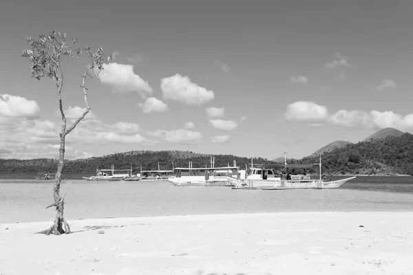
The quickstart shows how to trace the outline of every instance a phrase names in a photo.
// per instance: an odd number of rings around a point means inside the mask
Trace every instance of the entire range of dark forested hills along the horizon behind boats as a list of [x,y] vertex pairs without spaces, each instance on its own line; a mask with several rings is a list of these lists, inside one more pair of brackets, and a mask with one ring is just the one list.
[[[213,155],[215,167],[233,165],[244,168],[251,163],[248,157],[235,155]],[[155,170],[158,162],[161,169],[173,167],[188,167],[192,162],[193,167],[210,165],[211,155],[193,153],[191,151],[130,151],[116,153],[103,157],[89,159],[67,160],[63,173],[89,175],[96,168],[110,168],[114,164],[116,169],[129,169],[134,173],[140,170]],[[264,158],[254,158],[255,164],[273,163]],[[284,162],[284,159],[282,160]],[[319,162],[317,157],[304,157],[303,159],[288,159],[288,163]],[[413,135],[388,136],[377,140],[370,139],[357,144],[347,144],[341,148],[324,152],[321,155],[322,172],[326,174],[360,174],[360,175],[413,175]],[[57,159],[0,159],[0,173],[46,173],[53,172],[57,167]],[[313,170],[290,170],[290,173],[318,173],[318,166]]]

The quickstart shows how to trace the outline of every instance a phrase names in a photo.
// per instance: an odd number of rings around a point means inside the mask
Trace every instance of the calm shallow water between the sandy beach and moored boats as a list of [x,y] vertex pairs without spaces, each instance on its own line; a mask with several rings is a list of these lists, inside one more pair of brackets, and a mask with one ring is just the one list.
[[[0,179],[0,223],[54,218],[52,181]],[[413,177],[357,177],[331,190],[233,190],[169,182],[62,181],[65,217],[306,211],[412,211]]]

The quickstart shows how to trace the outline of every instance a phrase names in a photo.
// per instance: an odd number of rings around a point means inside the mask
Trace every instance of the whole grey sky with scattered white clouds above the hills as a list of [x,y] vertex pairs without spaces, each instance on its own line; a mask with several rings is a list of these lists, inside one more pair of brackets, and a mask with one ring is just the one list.
[[[113,54],[67,159],[132,150],[301,158],[335,140],[413,133],[413,1],[2,1],[0,158],[59,156],[53,80],[26,38],[52,31]],[[66,58],[68,123],[89,59]]]

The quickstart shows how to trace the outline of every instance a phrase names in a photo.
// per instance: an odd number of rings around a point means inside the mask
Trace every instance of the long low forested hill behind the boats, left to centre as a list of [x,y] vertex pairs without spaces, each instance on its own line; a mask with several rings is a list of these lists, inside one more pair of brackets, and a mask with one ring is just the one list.
[[[191,151],[129,151],[105,155],[103,157],[91,157],[88,159],[66,160],[63,173],[90,174],[96,172],[96,167],[110,169],[114,164],[115,169],[130,169],[134,173],[140,170],[158,169],[158,162],[161,169],[167,170],[173,167],[188,167],[192,162],[193,167],[210,166],[212,155],[193,153]],[[251,163],[251,158],[237,157],[235,155],[213,155],[215,157],[215,167],[232,166],[233,161],[237,166],[245,167]],[[254,163],[271,163],[268,159],[257,157]],[[57,159],[0,159],[0,173],[46,173],[53,172],[57,168]]]

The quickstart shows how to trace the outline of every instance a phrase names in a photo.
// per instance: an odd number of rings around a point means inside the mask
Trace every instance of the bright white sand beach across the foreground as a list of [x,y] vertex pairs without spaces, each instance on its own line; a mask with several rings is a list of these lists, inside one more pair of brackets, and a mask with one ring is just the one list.
[[51,222],[0,225],[0,274],[413,274],[413,212]]

